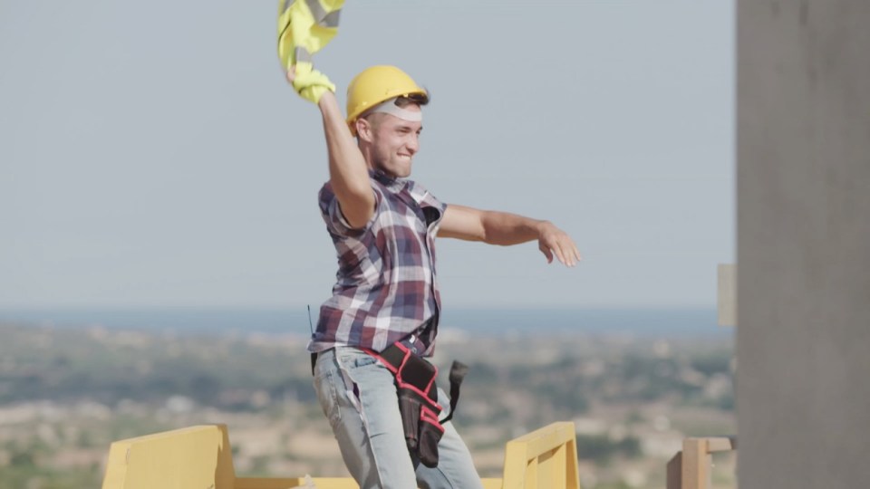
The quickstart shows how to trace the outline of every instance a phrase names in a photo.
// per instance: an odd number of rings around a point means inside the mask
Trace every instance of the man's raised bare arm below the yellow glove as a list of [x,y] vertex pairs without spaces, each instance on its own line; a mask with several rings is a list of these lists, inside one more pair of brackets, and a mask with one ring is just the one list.
[[[294,70],[287,72],[287,81],[293,83],[294,79]],[[333,193],[347,223],[353,228],[362,228],[374,214],[374,191],[368,166],[344,121],[335,94],[325,91],[317,101],[317,107],[324,116],[329,181]]]

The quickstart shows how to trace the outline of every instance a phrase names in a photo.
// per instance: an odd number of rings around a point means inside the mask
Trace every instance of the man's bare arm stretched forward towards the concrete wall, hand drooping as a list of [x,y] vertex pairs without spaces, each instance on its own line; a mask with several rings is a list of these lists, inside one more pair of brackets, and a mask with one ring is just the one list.
[[574,266],[582,259],[571,236],[553,223],[507,212],[449,204],[438,235],[503,246],[537,240],[537,247],[546,256],[547,263],[553,262],[554,255],[567,266]]

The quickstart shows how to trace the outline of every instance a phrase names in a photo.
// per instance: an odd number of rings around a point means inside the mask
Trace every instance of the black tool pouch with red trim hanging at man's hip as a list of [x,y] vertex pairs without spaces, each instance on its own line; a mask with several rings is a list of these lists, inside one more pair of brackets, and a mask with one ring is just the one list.
[[444,434],[442,425],[456,412],[459,386],[469,371],[468,366],[453,361],[450,367],[450,414],[439,419],[441,407],[438,404],[438,389],[435,387],[438,369],[434,365],[414,354],[401,342],[394,343],[381,353],[371,350],[368,353],[381,360],[396,379],[401,424],[408,450],[420,458],[423,465],[437,466],[438,442]]

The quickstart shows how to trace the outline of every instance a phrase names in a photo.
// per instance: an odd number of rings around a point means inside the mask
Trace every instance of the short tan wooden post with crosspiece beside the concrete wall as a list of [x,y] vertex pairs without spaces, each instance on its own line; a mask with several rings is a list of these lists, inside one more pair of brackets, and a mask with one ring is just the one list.
[[667,489],[708,489],[712,454],[737,449],[734,436],[686,438],[668,462]]

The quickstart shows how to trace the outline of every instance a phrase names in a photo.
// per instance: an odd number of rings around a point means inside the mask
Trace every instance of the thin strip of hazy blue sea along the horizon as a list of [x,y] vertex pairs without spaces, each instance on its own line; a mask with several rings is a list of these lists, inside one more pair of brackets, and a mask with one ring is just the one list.
[[[312,307],[316,325],[318,308]],[[613,309],[449,309],[443,328],[471,335],[522,333],[625,333],[633,336],[720,336],[733,328],[717,325],[713,308]],[[177,334],[262,333],[308,336],[307,309],[0,309],[0,323],[57,328],[102,327]]]

